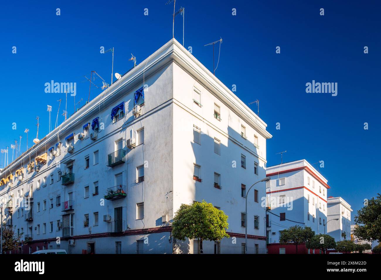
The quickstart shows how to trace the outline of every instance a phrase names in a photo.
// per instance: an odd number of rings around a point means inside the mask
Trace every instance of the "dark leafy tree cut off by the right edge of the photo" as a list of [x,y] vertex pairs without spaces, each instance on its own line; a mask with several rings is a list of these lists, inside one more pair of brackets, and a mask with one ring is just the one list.
[[381,194],[364,202],[355,216],[354,235],[363,240],[381,240]]

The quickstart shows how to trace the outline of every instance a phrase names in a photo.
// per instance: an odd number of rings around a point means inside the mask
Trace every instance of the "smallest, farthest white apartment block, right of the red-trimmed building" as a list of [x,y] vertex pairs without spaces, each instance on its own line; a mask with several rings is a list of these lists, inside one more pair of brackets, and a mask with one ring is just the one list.
[[[341,197],[328,197],[327,234],[335,241],[351,240],[351,205]],[[336,220],[337,219],[337,220]]]

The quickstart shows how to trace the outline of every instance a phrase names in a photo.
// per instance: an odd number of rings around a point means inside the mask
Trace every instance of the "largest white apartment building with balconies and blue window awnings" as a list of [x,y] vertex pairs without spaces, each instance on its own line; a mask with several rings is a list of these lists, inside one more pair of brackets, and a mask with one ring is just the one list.
[[198,253],[171,221],[205,200],[231,238],[204,253],[266,253],[266,126],[172,39],[0,172],[4,221],[19,253]]

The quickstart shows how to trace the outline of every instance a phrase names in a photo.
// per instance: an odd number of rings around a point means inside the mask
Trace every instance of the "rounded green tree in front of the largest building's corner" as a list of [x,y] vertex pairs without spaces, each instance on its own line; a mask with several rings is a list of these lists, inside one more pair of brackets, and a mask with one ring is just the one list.
[[203,253],[203,240],[218,241],[230,237],[226,233],[229,227],[227,215],[211,203],[194,202],[192,205],[181,204],[175,213],[172,223],[174,238],[185,241],[188,239],[200,240],[200,253]]

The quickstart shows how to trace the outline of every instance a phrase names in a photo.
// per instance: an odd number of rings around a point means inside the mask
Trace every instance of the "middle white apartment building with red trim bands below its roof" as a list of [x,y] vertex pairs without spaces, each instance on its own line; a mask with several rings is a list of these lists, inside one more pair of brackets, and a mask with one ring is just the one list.
[[[267,167],[267,249],[272,254],[295,253],[295,246],[279,244],[280,232],[308,226],[324,234],[327,222],[327,179],[306,160]],[[301,246],[298,253],[307,253]],[[304,251],[303,251],[304,250]]]

